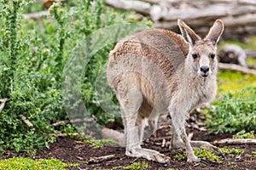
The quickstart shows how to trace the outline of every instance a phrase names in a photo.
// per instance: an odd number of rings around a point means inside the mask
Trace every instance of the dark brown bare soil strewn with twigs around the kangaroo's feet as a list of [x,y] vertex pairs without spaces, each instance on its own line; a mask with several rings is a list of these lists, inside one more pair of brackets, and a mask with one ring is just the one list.
[[[110,127],[113,127],[113,125]],[[84,142],[79,141],[79,139],[71,138],[58,138],[55,143],[50,144],[49,149],[38,150],[36,159],[55,158],[65,162],[79,162],[79,167],[69,167],[68,169],[113,169],[114,167],[115,169],[121,169],[121,167],[129,166],[133,162],[143,161],[148,163],[148,169],[256,169],[256,156],[255,154],[252,156],[252,152],[256,151],[256,144],[215,144],[218,147],[244,150],[241,156],[236,156],[236,154],[235,156],[225,154],[222,159],[223,162],[220,164],[209,160],[207,161],[207,164],[189,164],[185,158],[177,161],[175,156],[177,156],[178,153],[182,153],[183,150],[169,150],[169,141],[171,139],[170,128],[171,126],[168,124],[161,126],[154,135],[151,135],[144,141],[142,147],[158,150],[160,153],[170,156],[172,158],[171,166],[125,156],[125,148],[104,146],[99,149],[94,149],[90,144],[84,144]],[[189,122],[187,125],[187,133],[189,136],[192,136],[192,140],[212,142],[218,139],[232,138],[232,134],[230,133],[208,134],[207,131],[204,131],[203,129],[204,127],[200,127],[194,122]],[[163,140],[166,141],[164,145]],[[6,154],[5,156],[0,157],[0,159],[12,156],[14,156],[14,154]],[[21,156],[25,155],[21,154]],[[108,156],[108,159],[96,162],[96,158],[100,156]]]

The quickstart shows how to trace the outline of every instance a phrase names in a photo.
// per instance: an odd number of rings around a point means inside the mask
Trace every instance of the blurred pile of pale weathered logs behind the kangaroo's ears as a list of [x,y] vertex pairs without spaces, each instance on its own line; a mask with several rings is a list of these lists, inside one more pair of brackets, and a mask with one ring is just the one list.
[[[185,20],[199,34],[216,19],[224,20],[224,36],[256,34],[256,2],[250,0],[107,0],[114,8],[148,15],[156,27],[177,31],[177,19]],[[197,29],[196,29],[197,28]]]

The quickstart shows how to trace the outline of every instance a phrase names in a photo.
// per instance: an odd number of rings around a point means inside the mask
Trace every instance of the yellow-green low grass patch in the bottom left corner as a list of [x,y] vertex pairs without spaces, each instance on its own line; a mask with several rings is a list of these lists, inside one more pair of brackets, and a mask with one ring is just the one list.
[[13,157],[10,159],[0,160],[0,170],[14,169],[40,169],[40,170],[62,170],[67,167],[79,167],[79,163],[65,163],[55,159],[32,160],[25,157]]

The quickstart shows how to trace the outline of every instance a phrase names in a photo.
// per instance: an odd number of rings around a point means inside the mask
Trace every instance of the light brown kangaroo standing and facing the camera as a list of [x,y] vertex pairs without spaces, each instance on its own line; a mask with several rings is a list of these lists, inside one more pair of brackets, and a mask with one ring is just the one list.
[[145,120],[163,114],[172,120],[170,147],[184,148],[187,161],[201,161],[192,147],[221,153],[207,142],[189,141],[184,123],[190,111],[215,98],[217,42],[224,24],[216,20],[203,39],[182,20],[177,24],[182,35],[148,29],[119,41],[109,54],[107,78],[119,100],[126,156],[170,163],[170,157],[141,147]]

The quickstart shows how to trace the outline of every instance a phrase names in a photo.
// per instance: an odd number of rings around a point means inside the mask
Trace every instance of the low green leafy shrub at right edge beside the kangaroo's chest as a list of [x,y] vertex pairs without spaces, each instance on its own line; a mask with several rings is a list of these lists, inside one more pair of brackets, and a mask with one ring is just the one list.
[[206,122],[209,133],[256,132],[256,88],[224,94],[214,105]]

